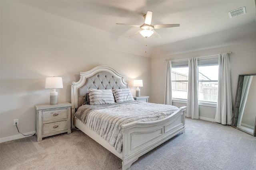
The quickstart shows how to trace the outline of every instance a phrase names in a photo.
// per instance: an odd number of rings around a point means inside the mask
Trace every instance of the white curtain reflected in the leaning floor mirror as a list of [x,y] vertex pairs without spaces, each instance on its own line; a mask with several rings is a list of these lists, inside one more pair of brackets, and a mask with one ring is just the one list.
[[249,89],[250,89],[250,86],[252,83],[252,78],[253,78],[253,76],[244,76],[244,82],[243,82],[243,88],[242,88],[242,94],[241,94],[241,100],[240,100],[240,107],[239,107],[239,113],[238,113],[237,127],[240,127],[240,125],[242,123],[244,107],[245,107]]

